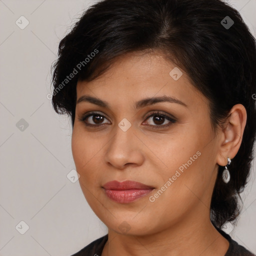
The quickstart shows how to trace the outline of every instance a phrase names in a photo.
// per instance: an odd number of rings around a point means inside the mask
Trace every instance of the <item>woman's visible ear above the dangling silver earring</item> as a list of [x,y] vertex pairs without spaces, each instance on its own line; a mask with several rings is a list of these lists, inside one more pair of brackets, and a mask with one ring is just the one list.
[[241,104],[234,105],[229,111],[229,117],[220,131],[220,145],[216,156],[218,165],[225,166],[227,164],[227,157],[232,159],[238,152],[246,119],[246,109]]

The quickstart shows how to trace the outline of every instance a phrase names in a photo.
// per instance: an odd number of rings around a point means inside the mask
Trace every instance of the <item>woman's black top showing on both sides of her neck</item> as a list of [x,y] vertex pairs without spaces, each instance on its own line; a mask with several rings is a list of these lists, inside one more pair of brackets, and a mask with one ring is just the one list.
[[[229,241],[229,247],[224,256],[256,256],[255,254],[252,254],[250,251],[245,249],[243,246],[239,245],[236,241],[234,241],[230,235],[226,234],[221,229],[217,230]],[[107,237],[108,234],[94,240],[71,256],[101,256],[103,247],[107,241]]]

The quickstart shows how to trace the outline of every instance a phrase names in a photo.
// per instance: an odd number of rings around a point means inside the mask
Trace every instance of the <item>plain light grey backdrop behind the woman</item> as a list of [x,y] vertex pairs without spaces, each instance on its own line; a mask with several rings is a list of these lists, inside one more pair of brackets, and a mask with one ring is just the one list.
[[[56,59],[60,39],[94,2],[0,0],[2,256],[69,256],[107,233],[106,226],[88,206],[78,181],[72,183],[67,178],[75,169],[71,124],[67,116],[53,111],[46,97],[52,91],[50,66]],[[255,36],[256,0],[229,2],[240,11]],[[243,211],[230,232],[234,240],[254,253],[255,172],[254,160],[242,194]]]

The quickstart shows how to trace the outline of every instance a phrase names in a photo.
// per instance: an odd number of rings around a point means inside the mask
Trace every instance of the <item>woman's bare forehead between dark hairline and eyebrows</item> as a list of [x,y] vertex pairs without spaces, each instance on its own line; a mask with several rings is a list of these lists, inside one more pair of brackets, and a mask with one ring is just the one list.
[[92,81],[78,81],[76,90],[77,99],[89,94],[116,103],[124,98],[131,102],[141,97],[166,95],[190,104],[195,97],[202,97],[188,75],[159,52],[118,56],[101,76]]

